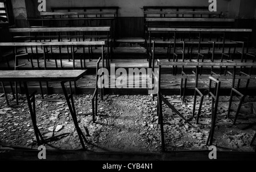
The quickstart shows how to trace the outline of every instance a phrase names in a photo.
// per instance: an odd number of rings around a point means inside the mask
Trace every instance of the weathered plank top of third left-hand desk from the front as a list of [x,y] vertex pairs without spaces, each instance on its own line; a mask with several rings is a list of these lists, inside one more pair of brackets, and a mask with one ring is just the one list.
[[42,28],[10,28],[9,32],[107,32],[110,26],[104,27],[42,27]]

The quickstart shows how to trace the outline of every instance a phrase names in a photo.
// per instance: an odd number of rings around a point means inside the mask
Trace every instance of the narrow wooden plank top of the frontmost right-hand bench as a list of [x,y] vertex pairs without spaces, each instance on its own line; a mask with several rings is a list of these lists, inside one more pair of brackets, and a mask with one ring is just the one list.
[[156,65],[160,66],[242,66],[242,67],[256,67],[253,62],[171,62],[171,61],[156,61]]

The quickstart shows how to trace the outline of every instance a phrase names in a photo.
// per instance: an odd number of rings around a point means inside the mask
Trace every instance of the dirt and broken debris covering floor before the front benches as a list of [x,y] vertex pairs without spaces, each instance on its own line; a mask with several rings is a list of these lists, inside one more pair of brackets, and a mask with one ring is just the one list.
[[[11,100],[13,97],[8,96]],[[206,146],[211,123],[211,98],[205,96],[199,124],[192,116],[193,97],[165,96],[183,115],[186,123],[163,105],[164,138],[167,150],[208,150]],[[63,95],[36,95],[36,120],[45,139],[63,135],[46,144],[47,149],[81,149],[79,137]],[[99,100],[96,123],[92,118],[91,95],[75,95],[79,126],[86,135],[85,143],[92,152],[161,152],[160,125],[156,114],[157,100],[148,95],[105,95]],[[219,151],[253,152],[250,141],[256,132],[255,97],[247,97],[237,124],[227,118],[229,97],[220,97],[213,145]],[[231,116],[236,113],[239,99],[234,97]],[[34,129],[25,95],[19,95],[19,105],[7,107],[0,98],[0,148],[26,146],[37,148]],[[199,109],[199,99],[196,111]]]

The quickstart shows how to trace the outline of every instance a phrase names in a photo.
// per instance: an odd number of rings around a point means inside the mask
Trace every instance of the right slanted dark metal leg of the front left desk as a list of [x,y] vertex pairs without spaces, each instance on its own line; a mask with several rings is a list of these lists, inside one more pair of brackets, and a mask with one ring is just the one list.
[[[79,139],[80,139],[80,142],[81,142],[81,145],[82,145],[82,149],[86,149],[84,141],[87,142],[87,140],[84,136],[84,133],[82,133],[82,131],[79,127],[78,121],[77,121],[75,104],[74,104],[74,100],[73,100],[73,94],[68,96],[67,90],[65,88],[65,82],[61,82],[61,87],[63,89],[63,93],[64,93],[65,99],[67,101],[69,111],[71,112],[73,123],[76,127],[77,135],[79,136]],[[83,141],[83,139],[84,139],[84,141]]]

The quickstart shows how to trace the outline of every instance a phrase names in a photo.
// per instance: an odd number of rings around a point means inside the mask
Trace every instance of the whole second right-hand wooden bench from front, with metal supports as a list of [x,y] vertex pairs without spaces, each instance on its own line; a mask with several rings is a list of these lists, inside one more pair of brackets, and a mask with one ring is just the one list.
[[[167,35],[167,38],[164,37],[163,40],[154,40],[155,44],[167,44],[169,47],[167,49],[167,53],[171,52],[171,45],[174,47],[174,53],[176,53],[176,47],[177,45],[182,45],[182,44],[187,44],[191,45],[191,54],[192,54],[192,47],[198,47],[198,53],[200,53],[200,49],[203,45],[206,45],[208,49],[208,53],[212,53],[212,56],[214,56],[214,48],[216,44],[222,45],[222,54],[225,52],[225,45],[229,45],[229,53],[230,53],[230,48],[231,45],[233,45],[234,48],[234,53],[236,53],[236,46],[238,44],[242,45],[242,51],[238,52],[241,54],[241,59],[243,59],[243,54],[245,54],[245,48],[246,48],[246,54],[249,51],[249,37],[251,34],[252,30],[251,29],[242,29],[242,28],[148,28],[148,44],[147,44],[147,58],[149,58],[149,53],[151,52],[151,44],[152,44],[152,39],[151,35],[152,33],[164,33]],[[181,41],[178,41],[178,34],[182,33]],[[228,35],[229,33],[229,35]],[[233,41],[233,35],[230,33],[240,33],[240,37],[242,37],[243,34],[246,34],[246,44],[245,41],[240,41],[236,40]],[[185,34],[188,35],[188,39],[185,39]],[[191,35],[194,34],[194,37],[196,37],[196,40],[191,39]],[[196,34],[196,35],[195,35]],[[208,38],[204,38],[203,34],[208,34]],[[217,35],[216,35],[217,34]],[[216,35],[215,39],[212,37],[212,35]],[[228,41],[228,36],[230,37],[230,40]],[[166,40],[167,39],[167,40]],[[240,38],[239,38],[240,39]],[[221,40],[221,41],[219,41]],[[183,45],[183,51],[185,50]],[[212,47],[209,47],[212,46]],[[212,48],[212,51],[210,51],[210,48]],[[189,53],[189,47],[188,47],[188,53]],[[170,60],[170,57],[169,57]]]

